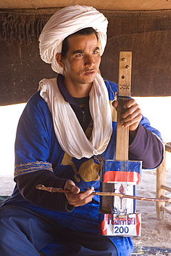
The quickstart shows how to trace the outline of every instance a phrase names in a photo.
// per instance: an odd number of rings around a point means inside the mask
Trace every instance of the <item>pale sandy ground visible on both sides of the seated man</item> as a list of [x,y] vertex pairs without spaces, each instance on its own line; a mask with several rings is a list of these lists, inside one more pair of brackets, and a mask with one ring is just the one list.
[[[11,194],[14,188],[12,175],[0,176],[0,195]],[[156,172],[143,170],[141,184],[137,186],[139,196],[155,197]],[[171,170],[167,170],[166,185],[171,187]],[[171,193],[166,193],[171,197]],[[171,248],[171,214],[165,212],[162,220],[157,219],[155,203],[137,201],[137,212],[142,215],[141,237],[134,237],[137,246]]]

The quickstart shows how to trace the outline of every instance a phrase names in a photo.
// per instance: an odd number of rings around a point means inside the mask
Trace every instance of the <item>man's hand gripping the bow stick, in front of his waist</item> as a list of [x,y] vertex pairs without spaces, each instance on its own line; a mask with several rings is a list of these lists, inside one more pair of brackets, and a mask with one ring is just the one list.
[[66,193],[66,199],[70,205],[74,205],[74,207],[85,205],[86,203],[90,203],[92,201],[93,195],[92,192],[94,188],[88,188],[85,192],[80,193],[80,189],[75,185],[73,181],[66,181],[66,185],[64,186],[64,190],[70,190],[71,193]]

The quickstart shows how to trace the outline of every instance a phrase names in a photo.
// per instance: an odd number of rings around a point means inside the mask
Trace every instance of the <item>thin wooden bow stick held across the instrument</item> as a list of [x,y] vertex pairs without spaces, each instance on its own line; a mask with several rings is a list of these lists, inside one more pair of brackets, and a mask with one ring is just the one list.
[[[60,192],[60,193],[71,193],[70,190],[63,190],[62,188],[52,188],[52,187],[45,187],[44,185],[37,185],[37,190],[45,190],[48,192]],[[83,192],[83,191],[81,191]],[[80,193],[81,193],[80,192]],[[130,199],[136,199],[141,201],[163,201],[163,202],[171,202],[171,199],[157,199],[157,198],[147,198],[147,197],[141,197],[141,196],[130,196],[129,194],[121,194],[121,193],[114,193],[114,192],[92,192],[92,195],[98,195],[98,196],[119,196],[123,198],[130,198]]]

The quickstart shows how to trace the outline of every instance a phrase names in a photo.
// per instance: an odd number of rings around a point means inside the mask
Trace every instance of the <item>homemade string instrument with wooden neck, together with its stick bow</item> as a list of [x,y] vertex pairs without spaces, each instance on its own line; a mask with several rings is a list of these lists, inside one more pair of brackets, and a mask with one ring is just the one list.
[[[123,105],[130,99],[132,53],[121,52],[119,56],[119,91],[117,100],[117,145],[115,160],[101,162],[101,196],[99,234],[116,236],[140,236],[141,214],[136,213],[136,200],[167,201],[136,196],[136,185],[141,181],[141,161],[128,161],[129,128],[121,127]],[[38,190],[70,193],[61,188],[37,185]]]

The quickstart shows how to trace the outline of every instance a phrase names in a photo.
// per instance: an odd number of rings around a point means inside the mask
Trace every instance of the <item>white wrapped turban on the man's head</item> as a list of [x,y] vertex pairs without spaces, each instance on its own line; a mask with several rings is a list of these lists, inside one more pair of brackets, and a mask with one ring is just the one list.
[[107,39],[108,20],[91,6],[68,6],[57,11],[44,26],[39,37],[41,59],[51,63],[53,71],[63,74],[56,60],[61,53],[63,39],[82,28],[92,27],[99,33],[100,53],[103,54]]

